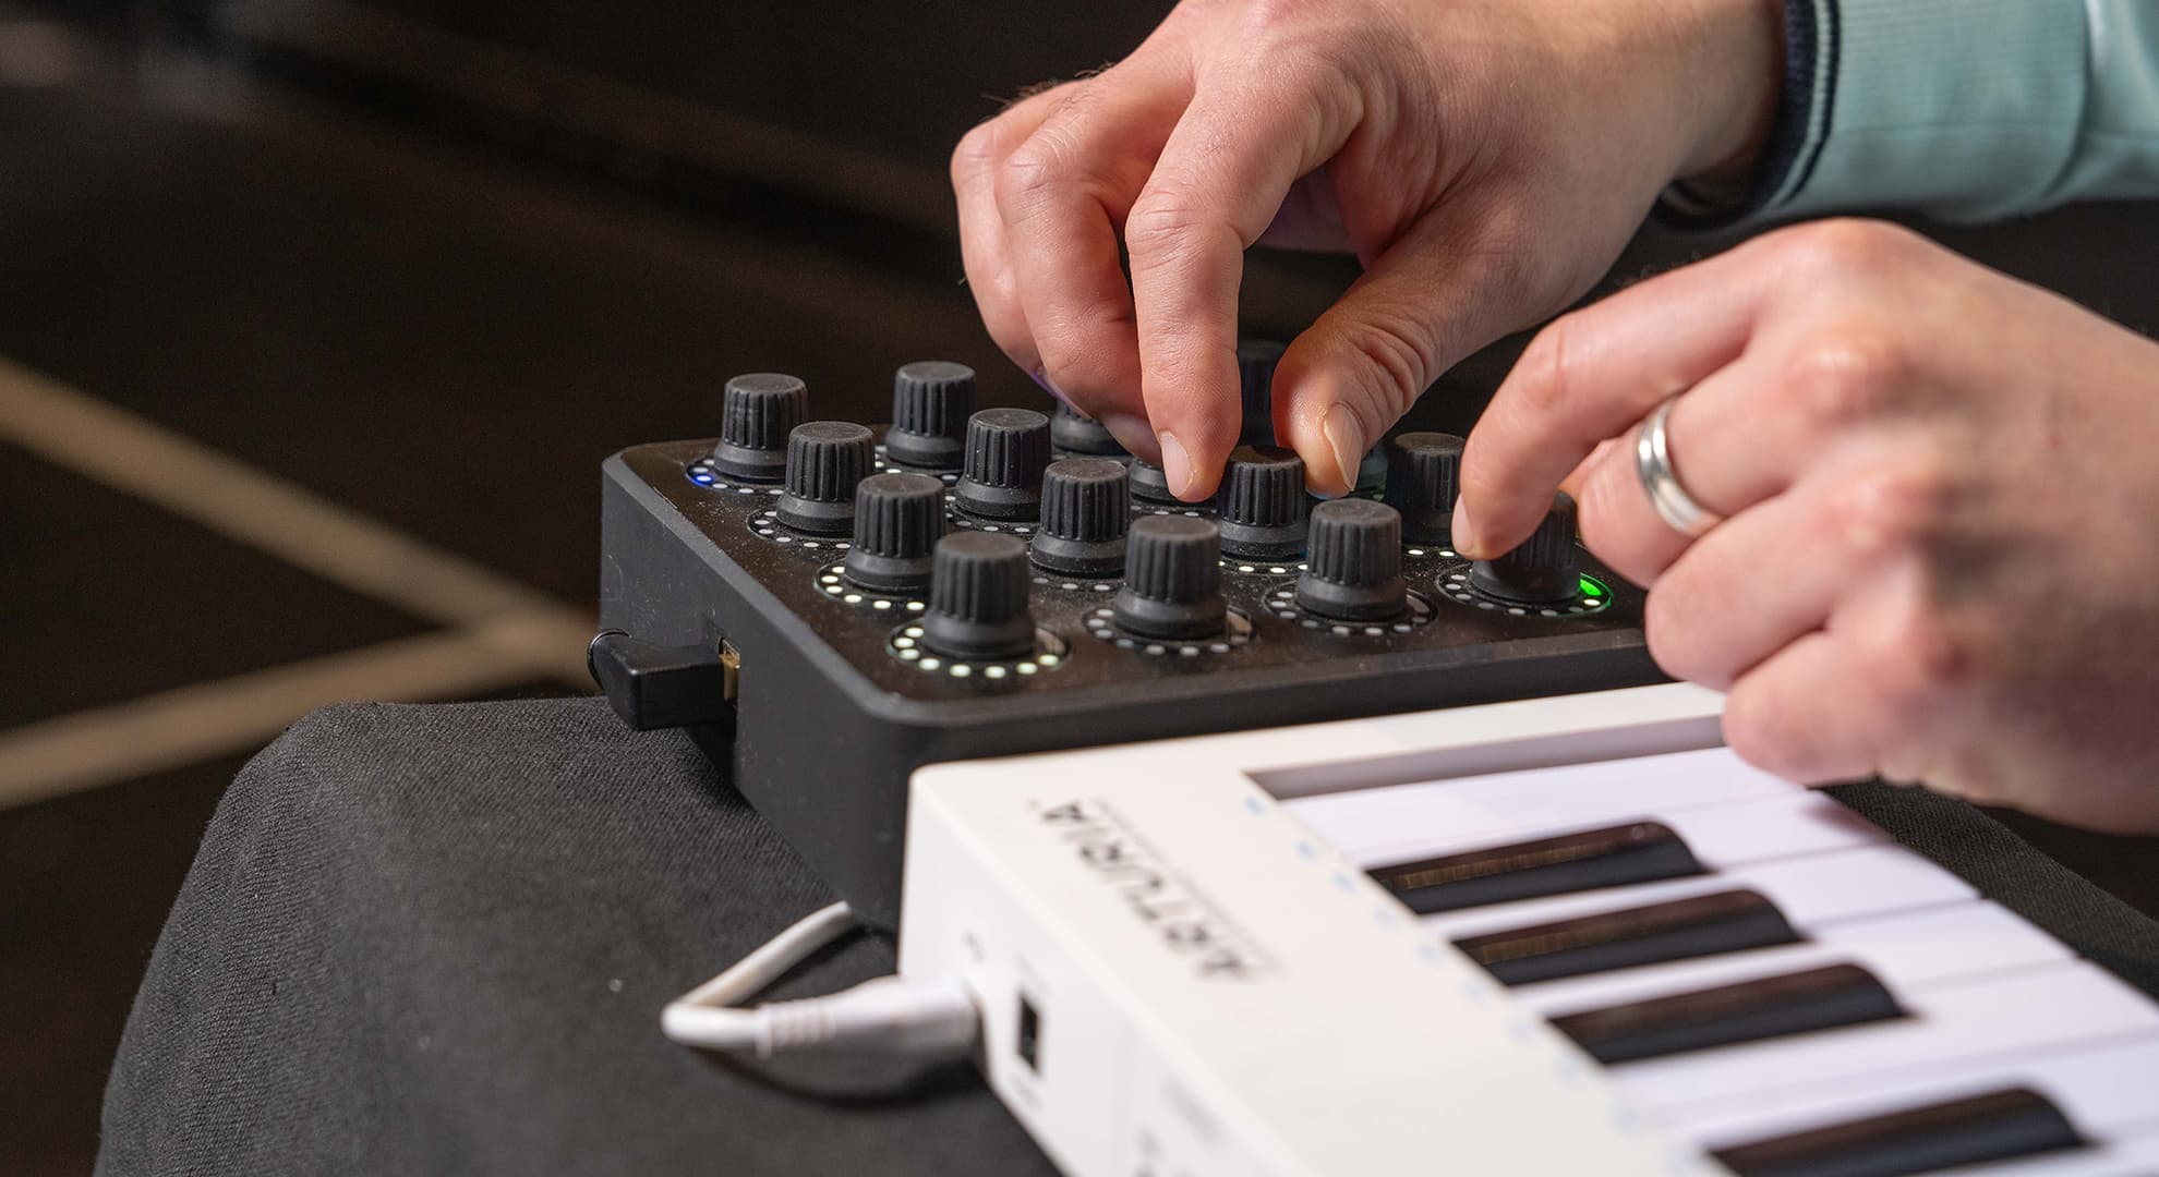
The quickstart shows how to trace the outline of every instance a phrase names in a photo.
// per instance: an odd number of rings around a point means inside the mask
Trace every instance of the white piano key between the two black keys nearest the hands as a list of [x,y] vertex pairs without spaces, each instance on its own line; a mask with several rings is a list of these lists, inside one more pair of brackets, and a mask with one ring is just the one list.
[[1753,888],[1783,911],[1794,929],[1816,929],[1837,920],[1878,916],[1904,907],[1930,907],[1978,896],[1971,883],[1893,844],[1870,844],[1803,857],[1777,857],[1727,866],[1716,875],[1665,879],[1632,888],[1600,888],[1550,898],[1524,898],[1492,907],[1468,907],[1425,916],[1427,929],[1447,939],[1526,929],[1576,916],[1600,916],[1671,898]]

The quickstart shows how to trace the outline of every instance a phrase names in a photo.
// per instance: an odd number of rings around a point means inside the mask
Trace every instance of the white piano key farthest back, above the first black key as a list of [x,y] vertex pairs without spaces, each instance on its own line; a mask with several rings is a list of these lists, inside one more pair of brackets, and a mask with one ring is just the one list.
[[1503,842],[1522,831],[1565,831],[1686,806],[1783,797],[1798,786],[1751,769],[1725,747],[1561,765],[1328,793],[1287,801],[1339,851],[1382,862],[1423,847]]

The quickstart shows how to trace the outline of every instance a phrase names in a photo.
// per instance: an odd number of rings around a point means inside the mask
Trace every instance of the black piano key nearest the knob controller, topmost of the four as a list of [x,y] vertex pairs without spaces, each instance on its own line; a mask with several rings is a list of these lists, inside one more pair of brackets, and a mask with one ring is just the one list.
[[1660,821],[1632,821],[1533,842],[1485,847],[1371,872],[1412,911],[1457,911],[1548,894],[1701,875],[1695,851]]

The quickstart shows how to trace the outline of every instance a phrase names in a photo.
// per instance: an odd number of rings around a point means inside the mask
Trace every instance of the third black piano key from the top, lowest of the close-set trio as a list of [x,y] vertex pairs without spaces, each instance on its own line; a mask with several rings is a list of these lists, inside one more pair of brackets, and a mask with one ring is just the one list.
[[1634,1063],[1891,1017],[1904,1017],[1904,1011],[1872,972],[1824,965],[1570,1013],[1554,1017],[1552,1026],[1598,1063]]

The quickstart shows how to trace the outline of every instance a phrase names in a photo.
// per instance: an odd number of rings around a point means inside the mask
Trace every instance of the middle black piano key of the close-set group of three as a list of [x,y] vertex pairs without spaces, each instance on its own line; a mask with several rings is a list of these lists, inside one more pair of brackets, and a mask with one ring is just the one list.
[[1766,896],[1732,890],[1472,935],[1455,948],[1501,983],[1529,985],[1801,939]]

